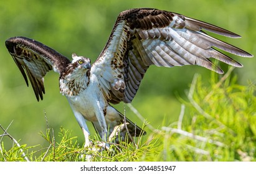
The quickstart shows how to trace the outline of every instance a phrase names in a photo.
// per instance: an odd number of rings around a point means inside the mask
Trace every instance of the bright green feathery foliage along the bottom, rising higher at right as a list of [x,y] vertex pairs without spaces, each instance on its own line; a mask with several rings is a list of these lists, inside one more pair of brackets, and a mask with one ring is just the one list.
[[220,79],[212,73],[210,84],[195,75],[187,99],[179,98],[178,119],[159,129],[148,124],[148,135],[133,143],[110,144],[102,151],[93,137],[98,150],[84,149],[72,132],[60,128],[57,141],[54,129],[47,129],[40,135],[48,147],[37,150],[39,145],[16,144],[7,150],[0,139],[0,161],[24,161],[21,149],[31,161],[84,161],[86,155],[93,161],[256,161],[256,86],[237,85],[232,69]]

